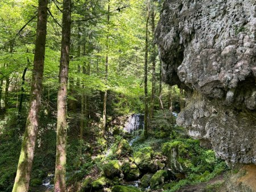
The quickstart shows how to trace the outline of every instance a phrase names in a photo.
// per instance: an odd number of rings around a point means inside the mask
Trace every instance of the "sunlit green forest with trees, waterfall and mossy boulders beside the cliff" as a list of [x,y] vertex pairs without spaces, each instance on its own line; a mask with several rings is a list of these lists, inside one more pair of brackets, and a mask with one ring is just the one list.
[[228,166],[176,124],[187,93],[162,80],[163,1],[0,7],[0,191],[218,191]]

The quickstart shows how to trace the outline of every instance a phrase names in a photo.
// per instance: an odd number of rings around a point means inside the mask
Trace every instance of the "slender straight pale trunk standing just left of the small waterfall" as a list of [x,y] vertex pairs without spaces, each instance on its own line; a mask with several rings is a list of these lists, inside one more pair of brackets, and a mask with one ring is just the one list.
[[[108,12],[110,12],[110,0],[108,3]],[[110,15],[108,14],[108,35],[106,38],[106,49],[107,49],[107,54],[106,54],[106,62],[105,62],[105,83],[108,83],[108,65],[109,65],[109,20],[110,20]],[[104,101],[103,101],[103,117],[102,117],[102,136],[105,135],[106,132],[106,100],[107,100],[107,92],[108,90],[105,90],[104,93]]]

